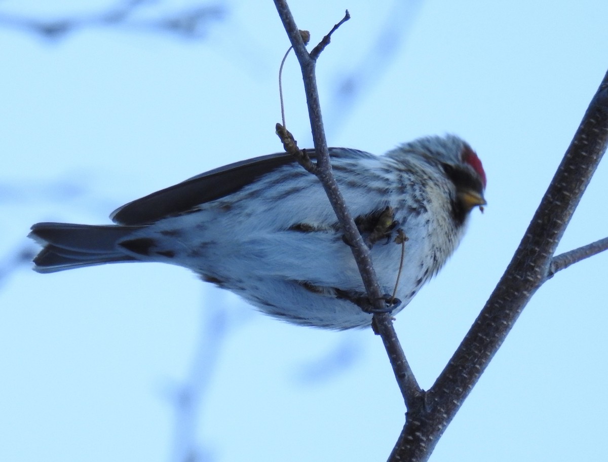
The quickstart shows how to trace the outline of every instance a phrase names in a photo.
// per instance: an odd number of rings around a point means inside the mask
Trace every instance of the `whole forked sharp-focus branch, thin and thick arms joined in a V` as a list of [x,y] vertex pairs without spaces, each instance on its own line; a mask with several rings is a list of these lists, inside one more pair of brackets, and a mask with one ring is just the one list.
[[[353,255],[361,271],[368,297],[379,309],[382,295],[371,266],[369,250],[362,242],[353,219],[348,215],[347,206],[331,174],[314,75],[316,58],[322,47],[313,50],[314,56],[309,55],[285,1],[275,0],[275,5],[302,67],[317,154],[317,164],[309,170],[313,170],[322,182],[344,227],[345,236],[353,243]],[[291,143],[291,140],[288,143]],[[374,315],[373,327],[376,333],[382,336],[407,406],[406,424],[390,455],[390,461],[428,460],[440,436],[502,345],[534,292],[554,272],[608,247],[606,240],[601,240],[553,258],[564,230],[606,151],[607,144],[608,74],[593,97],[513,260],[460,347],[427,393],[420,389],[401,346],[396,341],[390,315]],[[295,142],[293,145],[295,147]],[[299,153],[297,157],[306,157],[305,153]]]

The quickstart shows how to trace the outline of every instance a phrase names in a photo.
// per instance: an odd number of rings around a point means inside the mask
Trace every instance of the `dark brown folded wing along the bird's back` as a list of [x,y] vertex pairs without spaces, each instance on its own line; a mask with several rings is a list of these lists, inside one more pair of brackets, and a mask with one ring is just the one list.
[[[316,157],[313,150],[307,152],[311,158]],[[364,151],[344,148],[330,148],[330,156],[339,159],[374,157]],[[241,160],[129,202],[114,210],[110,218],[117,224],[136,226],[178,215],[196,205],[235,193],[276,168],[294,162],[294,157],[287,153]]]

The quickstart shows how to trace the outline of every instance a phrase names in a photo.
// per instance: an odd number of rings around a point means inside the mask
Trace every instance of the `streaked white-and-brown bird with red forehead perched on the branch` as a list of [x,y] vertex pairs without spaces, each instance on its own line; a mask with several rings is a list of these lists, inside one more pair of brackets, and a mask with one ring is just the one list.
[[[382,290],[393,294],[397,284],[400,303],[388,295],[387,303],[399,311],[454,252],[469,212],[486,204],[482,163],[452,135],[384,156],[346,148],[330,148],[330,156]],[[30,236],[44,246],[35,270],[159,261],[190,268],[288,322],[328,329],[371,322],[325,191],[289,154],[208,171],[123,205],[111,218],[116,225],[35,224]],[[397,233],[403,244],[395,243]]]

